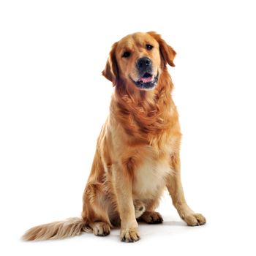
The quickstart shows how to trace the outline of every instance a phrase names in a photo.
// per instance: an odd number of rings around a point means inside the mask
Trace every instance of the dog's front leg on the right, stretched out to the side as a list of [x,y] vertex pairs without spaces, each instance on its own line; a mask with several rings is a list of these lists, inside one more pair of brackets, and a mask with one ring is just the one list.
[[182,184],[181,184],[181,167],[179,154],[173,154],[170,157],[170,165],[173,173],[167,177],[167,189],[173,200],[173,206],[178,211],[179,216],[189,226],[203,225],[206,223],[206,218],[202,214],[195,214],[187,205],[185,200]]

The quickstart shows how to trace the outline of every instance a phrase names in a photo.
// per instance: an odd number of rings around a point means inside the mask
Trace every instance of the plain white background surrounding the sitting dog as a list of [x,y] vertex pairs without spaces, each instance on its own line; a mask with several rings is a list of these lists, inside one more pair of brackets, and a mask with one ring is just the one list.
[[[1,255],[255,255],[254,1],[1,1]],[[163,225],[141,240],[25,243],[33,225],[78,217],[112,86],[110,46],[157,31],[177,52],[170,68],[180,114],[187,227],[165,195]]]

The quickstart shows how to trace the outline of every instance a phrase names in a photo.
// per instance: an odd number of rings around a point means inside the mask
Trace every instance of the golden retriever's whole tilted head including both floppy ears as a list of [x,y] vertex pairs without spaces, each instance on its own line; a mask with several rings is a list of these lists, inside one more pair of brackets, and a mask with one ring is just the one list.
[[157,86],[166,64],[175,66],[176,52],[155,32],[129,34],[113,44],[102,75],[115,86],[118,80],[140,90]]

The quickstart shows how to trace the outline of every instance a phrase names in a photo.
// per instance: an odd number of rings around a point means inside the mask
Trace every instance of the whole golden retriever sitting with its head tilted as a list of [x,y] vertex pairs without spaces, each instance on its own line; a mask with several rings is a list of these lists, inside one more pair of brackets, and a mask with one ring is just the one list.
[[107,236],[120,225],[121,241],[138,241],[138,220],[162,223],[155,209],[165,187],[187,225],[206,223],[187,205],[181,185],[181,132],[167,71],[175,56],[155,32],[129,34],[113,44],[102,75],[114,92],[83,193],[82,217],[32,227],[24,240],[90,230]]

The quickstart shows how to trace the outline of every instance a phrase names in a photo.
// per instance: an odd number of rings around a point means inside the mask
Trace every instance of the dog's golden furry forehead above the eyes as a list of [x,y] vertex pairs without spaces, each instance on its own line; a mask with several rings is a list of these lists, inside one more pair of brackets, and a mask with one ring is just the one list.
[[129,34],[118,42],[117,50],[123,50],[124,48],[131,49],[135,46],[143,47],[143,45],[147,43],[157,44],[157,41],[148,33],[138,32],[135,34]]

